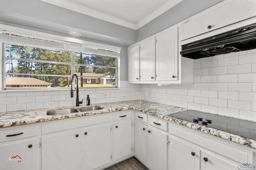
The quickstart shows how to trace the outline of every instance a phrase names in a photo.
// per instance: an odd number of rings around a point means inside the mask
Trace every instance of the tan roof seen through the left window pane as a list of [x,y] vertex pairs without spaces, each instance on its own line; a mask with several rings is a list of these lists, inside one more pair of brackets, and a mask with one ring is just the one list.
[[52,85],[32,77],[6,77],[6,85]]

